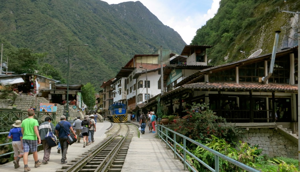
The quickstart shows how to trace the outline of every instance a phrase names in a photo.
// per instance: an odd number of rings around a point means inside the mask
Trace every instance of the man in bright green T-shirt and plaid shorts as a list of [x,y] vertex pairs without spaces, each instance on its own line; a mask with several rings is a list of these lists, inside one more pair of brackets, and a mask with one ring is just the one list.
[[28,154],[32,152],[35,160],[35,167],[39,167],[42,162],[38,160],[38,144],[41,144],[41,137],[38,132],[38,120],[34,119],[35,112],[33,109],[28,109],[28,118],[22,121],[21,131],[23,134],[23,148],[24,148],[24,172],[30,171],[28,167]]

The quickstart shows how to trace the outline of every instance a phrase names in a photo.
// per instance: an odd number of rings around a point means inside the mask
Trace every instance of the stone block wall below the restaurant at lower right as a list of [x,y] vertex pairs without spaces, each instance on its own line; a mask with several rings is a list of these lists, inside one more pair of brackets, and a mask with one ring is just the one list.
[[249,131],[238,139],[252,146],[258,145],[258,149],[262,149],[262,154],[298,159],[298,144],[283,136],[277,128],[249,128]]

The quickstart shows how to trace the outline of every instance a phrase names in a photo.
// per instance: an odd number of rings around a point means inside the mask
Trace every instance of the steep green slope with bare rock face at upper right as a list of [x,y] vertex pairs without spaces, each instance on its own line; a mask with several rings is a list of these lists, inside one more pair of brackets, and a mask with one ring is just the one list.
[[215,16],[197,30],[191,44],[213,46],[207,49],[210,65],[245,59],[258,49],[271,53],[277,30],[281,31],[277,51],[297,46],[298,17],[280,11],[299,8],[297,0],[221,0]]

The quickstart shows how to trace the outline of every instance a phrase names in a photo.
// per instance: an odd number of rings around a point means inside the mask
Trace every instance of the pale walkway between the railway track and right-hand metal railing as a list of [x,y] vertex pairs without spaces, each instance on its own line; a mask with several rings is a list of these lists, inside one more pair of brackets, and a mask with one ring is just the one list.
[[[138,122],[128,121],[140,126]],[[132,138],[122,172],[184,171],[182,162],[174,159],[173,151],[167,150],[166,144],[155,138],[156,134],[149,133],[149,127],[146,126],[145,134],[140,134],[140,138]]]

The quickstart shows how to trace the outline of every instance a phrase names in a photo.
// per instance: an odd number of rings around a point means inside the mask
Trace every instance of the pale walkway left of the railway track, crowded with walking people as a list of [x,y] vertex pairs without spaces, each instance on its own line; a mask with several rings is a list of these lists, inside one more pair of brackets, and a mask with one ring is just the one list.
[[[80,143],[73,143],[71,146],[68,147],[68,153],[67,153],[67,161],[70,162],[72,159],[75,159],[79,155],[82,155],[82,153],[87,152],[90,150],[93,146],[95,146],[97,143],[100,143],[104,138],[106,138],[105,132],[108,131],[108,129],[111,127],[111,123],[109,121],[104,121],[103,123],[97,122],[96,124],[96,132],[94,134],[95,142],[92,143],[89,146],[86,146],[83,148],[83,141],[80,140]],[[51,149],[50,154],[50,160],[48,161],[49,164],[42,164],[40,167],[35,168],[34,165],[34,159],[32,155],[29,155],[28,157],[28,166],[31,168],[31,171],[38,171],[38,172],[54,172],[58,169],[61,169],[61,167],[65,164],[61,164],[61,153],[57,153],[57,147],[53,147]],[[38,159],[40,161],[43,160],[44,151],[38,152]],[[23,164],[23,158],[20,160],[21,167],[14,169],[13,162],[9,162],[3,165],[0,165],[0,171],[1,172],[8,172],[8,171],[16,171],[16,172],[22,172],[24,171],[24,164]]]

